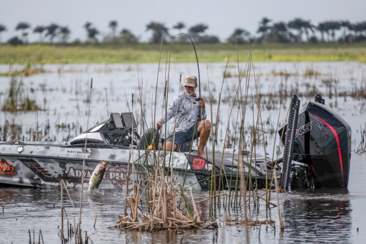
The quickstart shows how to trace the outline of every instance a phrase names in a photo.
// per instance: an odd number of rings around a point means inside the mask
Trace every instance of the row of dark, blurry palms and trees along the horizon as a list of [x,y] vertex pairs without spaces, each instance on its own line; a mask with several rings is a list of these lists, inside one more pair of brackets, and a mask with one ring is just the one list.
[[[132,33],[129,29],[122,28],[120,32],[117,31],[117,20],[110,20],[108,27],[111,32],[102,37],[103,43],[139,43],[139,37]],[[100,30],[93,26],[91,22],[86,22],[83,25],[86,31],[85,43],[99,42],[98,36],[101,35]],[[360,42],[366,41],[366,21],[351,23],[348,20],[329,20],[314,25],[310,20],[303,20],[301,18],[295,18],[288,22],[279,21],[273,22],[272,20],[264,17],[259,21],[257,29],[258,36],[252,35],[244,28],[236,28],[233,33],[224,41],[221,41],[215,35],[205,34],[208,25],[204,23],[198,23],[190,26],[189,28],[183,22],[178,22],[172,26],[176,30],[176,33],[184,32],[192,38],[195,43],[302,43],[302,42]],[[72,43],[81,44],[79,39],[69,42],[70,29],[67,26],[61,26],[56,23],[49,25],[37,25],[31,27],[28,22],[21,21],[16,27],[16,31],[20,32],[20,36],[10,38],[6,43],[12,45],[28,43],[29,31],[33,31],[34,34],[39,35],[39,43],[54,43],[57,40],[59,43]],[[2,32],[7,31],[5,25],[0,24],[0,42]],[[146,31],[151,31],[152,36],[149,40],[150,43],[167,42],[174,35],[170,35],[171,31],[164,23],[151,21],[146,24]],[[164,35],[163,35],[164,33]],[[318,35],[317,35],[318,34]],[[305,37],[305,38],[304,38]],[[188,42],[187,36],[180,35],[175,42]]]

